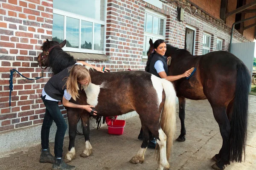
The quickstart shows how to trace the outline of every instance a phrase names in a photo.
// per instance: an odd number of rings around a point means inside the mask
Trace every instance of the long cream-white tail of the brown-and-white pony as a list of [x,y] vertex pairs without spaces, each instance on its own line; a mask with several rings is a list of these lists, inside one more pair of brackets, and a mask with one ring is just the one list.
[[[168,160],[171,154],[176,131],[176,92],[171,82],[166,79],[161,79],[161,81],[163,90],[166,94],[166,99],[163,106],[160,125],[167,136],[166,157]],[[159,160],[160,149],[158,149],[157,152]]]

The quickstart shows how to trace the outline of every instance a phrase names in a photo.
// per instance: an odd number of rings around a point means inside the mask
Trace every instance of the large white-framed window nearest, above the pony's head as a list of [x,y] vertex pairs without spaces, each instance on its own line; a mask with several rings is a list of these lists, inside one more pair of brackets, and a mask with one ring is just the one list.
[[65,51],[104,54],[105,23],[105,0],[54,0],[52,40]]

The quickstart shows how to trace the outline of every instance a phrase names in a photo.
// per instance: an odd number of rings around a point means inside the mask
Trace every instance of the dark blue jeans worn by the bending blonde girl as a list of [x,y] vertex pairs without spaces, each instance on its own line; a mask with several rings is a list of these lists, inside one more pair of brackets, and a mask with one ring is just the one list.
[[61,110],[58,107],[58,102],[45,99],[45,96],[41,96],[43,99],[45,109],[44,122],[41,129],[41,145],[42,149],[49,147],[49,132],[54,121],[57,125],[57,132],[55,134],[54,154],[55,157],[62,157],[63,141],[65,132],[67,130],[67,124],[61,114]]

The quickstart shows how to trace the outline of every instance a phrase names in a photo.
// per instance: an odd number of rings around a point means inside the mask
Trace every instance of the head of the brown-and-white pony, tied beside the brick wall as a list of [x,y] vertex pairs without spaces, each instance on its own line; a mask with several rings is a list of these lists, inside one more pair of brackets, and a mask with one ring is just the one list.
[[48,39],[46,39],[46,42],[44,42],[41,46],[43,52],[38,55],[38,64],[41,66],[42,69],[43,67],[45,67],[44,69],[46,69],[49,66],[48,55],[52,48],[54,48],[55,46],[59,46],[62,48],[65,44],[66,40],[59,44],[57,41],[49,41]]

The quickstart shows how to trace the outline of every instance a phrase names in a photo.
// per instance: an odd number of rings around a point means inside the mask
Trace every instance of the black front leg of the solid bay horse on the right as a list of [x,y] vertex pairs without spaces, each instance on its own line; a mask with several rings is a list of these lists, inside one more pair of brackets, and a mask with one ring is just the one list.
[[177,141],[184,142],[186,140],[186,128],[185,128],[185,105],[186,99],[185,97],[178,97],[179,98],[179,117],[180,117],[180,136],[177,138]]

